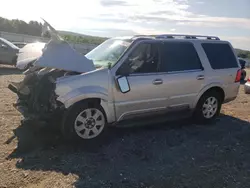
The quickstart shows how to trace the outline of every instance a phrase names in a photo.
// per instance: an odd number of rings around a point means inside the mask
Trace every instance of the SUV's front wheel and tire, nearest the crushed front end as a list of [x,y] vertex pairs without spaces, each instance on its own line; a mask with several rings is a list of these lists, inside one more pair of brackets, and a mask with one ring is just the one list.
[[90,106],[87,103],[79,103],[66,112],[61,131],[67,140],[90,141],[100,139],[106,125],[106,115],[99,104]]

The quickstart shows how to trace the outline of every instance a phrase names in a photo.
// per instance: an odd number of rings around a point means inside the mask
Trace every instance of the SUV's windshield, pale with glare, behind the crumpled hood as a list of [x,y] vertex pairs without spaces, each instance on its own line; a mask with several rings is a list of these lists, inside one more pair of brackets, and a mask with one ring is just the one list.
[[95,66],[107,67],[117,62],[131,42],[131,40],[108,39],[85,56],[91,59]]

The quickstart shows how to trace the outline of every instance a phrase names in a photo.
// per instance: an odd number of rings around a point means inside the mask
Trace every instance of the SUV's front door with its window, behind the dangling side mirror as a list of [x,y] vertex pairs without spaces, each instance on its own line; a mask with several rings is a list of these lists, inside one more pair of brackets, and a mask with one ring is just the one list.
[[163,77],[158,73],[159,44],[139,43],[124,63],[129,64],[130,91],[122,93],[118,87],[113,90],[117,120],[152,115],[164,109]]

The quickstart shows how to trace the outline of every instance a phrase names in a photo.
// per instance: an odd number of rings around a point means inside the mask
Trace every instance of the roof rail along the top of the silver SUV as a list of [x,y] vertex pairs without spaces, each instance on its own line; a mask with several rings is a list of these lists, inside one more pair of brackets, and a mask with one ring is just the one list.
[[155,38],[178,38],[182,37],[185,39],[199,39],[199,38],[205,38],[207,40],[220,40],[219,37],[216,36],[205,36],[205,35],[181,35],[181,34],[162,34],[162,35],[155,35]]

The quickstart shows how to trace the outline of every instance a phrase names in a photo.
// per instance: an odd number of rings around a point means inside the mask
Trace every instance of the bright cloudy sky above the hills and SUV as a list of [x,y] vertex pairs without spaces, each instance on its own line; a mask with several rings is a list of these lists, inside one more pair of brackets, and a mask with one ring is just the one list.
[[214,35],[250,50],[250,0],[7,0],[0,16],[103,37]]

